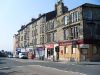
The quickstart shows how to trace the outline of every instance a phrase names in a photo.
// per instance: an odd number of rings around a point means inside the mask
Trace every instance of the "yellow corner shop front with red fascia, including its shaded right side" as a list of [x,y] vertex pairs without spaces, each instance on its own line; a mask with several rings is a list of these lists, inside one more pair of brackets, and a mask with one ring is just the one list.
[[100,44],[84,40],[59,42],[59,59],[66,61],[100,61]]

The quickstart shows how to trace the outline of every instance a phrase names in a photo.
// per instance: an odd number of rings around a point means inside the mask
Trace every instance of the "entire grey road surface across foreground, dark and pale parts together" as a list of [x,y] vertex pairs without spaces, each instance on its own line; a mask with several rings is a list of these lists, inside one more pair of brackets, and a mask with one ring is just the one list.
[[[58,62],[51,62],[51,61],[34,61],[34,60],[27,60],[27,59],[23,60],[23,59],[15,59],[15,58],[14,59],[13,58],[11,59],[0,58],[0,69],[1,69],[0,71],[1,73],[2,71],[9,70],[9,69],[10,70],[15,69],[14,72],[19,72],[19,69],[20,69],[20,70],[23,70],[24,72],[27,71],[27,73],[29,74],[29,72],[31,71],[30,73],[32,73],[32,70],[34,69],[35,75],[49,75],[49,74],[55,75],[56,73],[59,73],[59,75],[62,75],[62,74],[81,75],[80,73],[82,73],[82,75],[83,74],[99,75],[100,64],[96,64],[96,65],[95,64],[91,64],[91,65],[90,64],[80,64],[79,65],[79,64],[69,64],[69,63],[65,64],[65,63],[58,63]],[[37,71],[40,71],[39,72],[40,74],[37,74]]]

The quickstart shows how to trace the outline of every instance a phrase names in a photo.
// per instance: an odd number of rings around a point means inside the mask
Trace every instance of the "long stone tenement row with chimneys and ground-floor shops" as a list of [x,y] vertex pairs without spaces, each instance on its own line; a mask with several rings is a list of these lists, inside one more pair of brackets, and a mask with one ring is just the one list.
[[53,11],[32,19],[18,35],[16,49],[31,49],[40,59],[99,61],[100,5],[85,3],[68,10],[59,0]]

